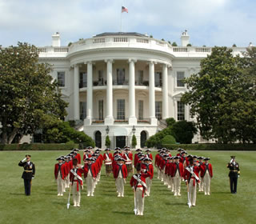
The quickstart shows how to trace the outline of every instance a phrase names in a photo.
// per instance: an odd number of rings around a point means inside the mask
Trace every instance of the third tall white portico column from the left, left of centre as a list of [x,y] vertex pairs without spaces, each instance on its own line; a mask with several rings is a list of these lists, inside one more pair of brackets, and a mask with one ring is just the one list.
[[106,60],[106,118],[105,125],[114,124],[113,117],[113,81],[112,81],[112,63],[113,60]]

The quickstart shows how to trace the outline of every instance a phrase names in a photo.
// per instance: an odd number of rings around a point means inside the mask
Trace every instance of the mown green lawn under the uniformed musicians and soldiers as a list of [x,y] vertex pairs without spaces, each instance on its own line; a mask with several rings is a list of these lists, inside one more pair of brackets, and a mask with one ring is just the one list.
[[[212,194],[198,193],[197,206],[189,208],[184,182],[182,197],[174,197],[155,176],[150,197],[145,199],[144,216],[134,216],[134,194],[128,181],[125,198],[117,198],[114,178],[105,176],[104,166],[95,196],[86,197],[85,186],[81,207],[73,207],[71,199],[67,210],[68,193],[57,197],[54,181],[55,158],[67,153],[61,151],[30,152],[36,166],[36,178],[31,196],[26,197],[22,167],[18,162],[27,153],[0,152],[0,223],[256,223],[255,152],[190,151],[211,158],[214,168]],[[236,155],[241,166],[238,194],[230,194],[226,168],[230,155]]]

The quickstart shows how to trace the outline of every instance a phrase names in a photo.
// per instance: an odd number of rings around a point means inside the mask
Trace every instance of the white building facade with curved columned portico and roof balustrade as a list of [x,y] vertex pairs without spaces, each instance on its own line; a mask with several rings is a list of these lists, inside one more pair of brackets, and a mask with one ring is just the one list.
[[[69,102],[66,120],[74,120],[105,148],[137,147],[165,127],[166,118],[192,121],[189,106],[180,101],[186,86],[183,78],[198,73],[200,61],[210,47],[187,46],[190,37],[182,33],[181,46],[138,33],[103,33],[61,46],[58,33],[52,46],[39,47],[40,62],[53,65],[63,99]],[[246,48],[234,47],[234,54]],[[196,135],[193,142],[202,142]]]

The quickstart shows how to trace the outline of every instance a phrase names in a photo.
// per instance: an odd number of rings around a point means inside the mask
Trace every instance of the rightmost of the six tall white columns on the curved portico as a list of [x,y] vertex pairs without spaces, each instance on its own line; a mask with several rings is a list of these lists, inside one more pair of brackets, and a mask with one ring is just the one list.
[[168,67],[162,65],[162,119],[168,118]]

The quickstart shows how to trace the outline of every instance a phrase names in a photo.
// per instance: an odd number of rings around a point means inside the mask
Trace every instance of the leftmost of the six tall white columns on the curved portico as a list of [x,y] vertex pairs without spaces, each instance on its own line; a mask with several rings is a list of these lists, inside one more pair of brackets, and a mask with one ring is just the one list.
[[79,114],[79,66],[74,65],[74,121],[80,119]]

